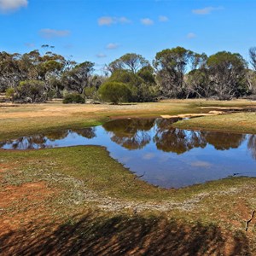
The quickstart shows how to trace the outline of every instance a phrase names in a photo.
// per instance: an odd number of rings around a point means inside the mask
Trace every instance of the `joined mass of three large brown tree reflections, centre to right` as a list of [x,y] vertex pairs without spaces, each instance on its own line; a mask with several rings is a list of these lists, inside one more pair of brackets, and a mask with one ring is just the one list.
[[[183,154],[192,148],[205,148],[211,144],[218,150],[238,148],[244,141],[242,134],[212,131],[185,131],[172,124],[178,119],[118,119],[103,125],[112,133],[111,140],[124,148],[138,149],[147,145],[152,132],[156,147],[164,152]],[[153,130],[154,127],[154,130]]]

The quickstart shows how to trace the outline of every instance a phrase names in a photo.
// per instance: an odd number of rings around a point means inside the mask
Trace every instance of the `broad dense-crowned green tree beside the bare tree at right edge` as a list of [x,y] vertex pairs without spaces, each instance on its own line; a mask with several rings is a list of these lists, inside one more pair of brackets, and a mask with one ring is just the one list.
[[207,60],[212,90],[221,100],[241,96],[246,90],[247,62],[240,54],[227,51],[211,55]]

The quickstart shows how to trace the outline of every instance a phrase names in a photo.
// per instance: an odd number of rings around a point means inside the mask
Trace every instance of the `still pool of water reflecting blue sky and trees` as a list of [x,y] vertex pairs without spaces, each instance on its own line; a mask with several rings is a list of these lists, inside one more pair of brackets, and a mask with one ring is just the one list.
[[0,143],[0,148],[100,145],[141,179],[164,188],[229,176],[256,177],[256,135],[174,129],[175,121],[117,119],[97,127],[20,137]]

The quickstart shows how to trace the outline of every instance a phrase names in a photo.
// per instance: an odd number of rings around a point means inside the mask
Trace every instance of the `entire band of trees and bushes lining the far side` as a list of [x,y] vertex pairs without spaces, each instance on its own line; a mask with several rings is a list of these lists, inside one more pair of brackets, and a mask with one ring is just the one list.
[[207,56],[183,47],[156,53],[152,65],[142,55],[129,53],[106,65],[104,75],[99,75],[90,61],[76,63],[48,50],[49,45],[42,47],[44,54],[39,50],[23,55],[0,52],[0,92],[12,102],[45,102],[55,97],[64,102],[84,102],[82,97],[113,103],[160,98],[227,100],[256,93],[256,48],[249,49],[250,63],[237,53]]

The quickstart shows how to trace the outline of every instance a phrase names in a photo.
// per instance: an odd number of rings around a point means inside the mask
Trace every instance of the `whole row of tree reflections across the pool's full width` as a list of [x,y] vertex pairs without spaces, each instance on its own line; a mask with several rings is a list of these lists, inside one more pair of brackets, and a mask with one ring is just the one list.
[[[183,154],[192,148],[205,148],[207,144],[217,150],[239,148],[247,138],[247,148],[256,159],[256,135],[222,133],[213,131],[186,131],[175,129],[172,124],[179,119],[116,119],[103,126],[110,134],[113,143],[127,149],[141,149],[148,143],[153,142],[156,148],[164,152]],[[73,131],[55,131],[30,137],[20,137],[15,141],[0,143],[0,148],[30,149],[49,148],[60,146],[69,133],[77,133],[81,137],[92,139],[96,137],[96,127],[76,129]],[[99,137],[101,134],[98,135]],[[72,145],[72,142],[71,142]]]

